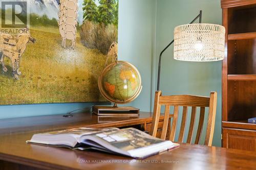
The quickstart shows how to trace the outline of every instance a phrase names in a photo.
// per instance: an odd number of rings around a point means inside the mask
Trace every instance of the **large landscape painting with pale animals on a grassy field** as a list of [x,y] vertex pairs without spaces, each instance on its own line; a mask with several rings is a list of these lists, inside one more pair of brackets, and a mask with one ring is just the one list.
[[117,58],[118,0],[5,2],[0,105],[105,101],[97,81]]

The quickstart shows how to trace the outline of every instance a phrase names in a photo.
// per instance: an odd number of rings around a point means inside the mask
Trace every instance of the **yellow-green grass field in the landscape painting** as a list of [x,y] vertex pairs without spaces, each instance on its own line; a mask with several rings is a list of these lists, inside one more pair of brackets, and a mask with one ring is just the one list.
[[0,104],[105,101],[97,81],[106,56],[84,47],[79,36],[75,50],[70,40],[62,48],[58,29],[48,29],[30,29],[36,42],[28,43],[22,56],[19,80],[13,79],[10,60],[5,57],[8,72],[0,65]]

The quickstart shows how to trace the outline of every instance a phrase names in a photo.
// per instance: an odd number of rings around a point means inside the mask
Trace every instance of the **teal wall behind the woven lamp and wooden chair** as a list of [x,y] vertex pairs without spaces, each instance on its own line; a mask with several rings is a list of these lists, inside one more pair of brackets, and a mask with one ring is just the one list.
[[[173,40],[174,28],[189,23],[199,14],[199,10],[203,10],[203,23],[221,25],[220,0],[157,0],[157,57],[155,63],[158,63],[158,56],[163,48]],[[160,85],[160,90],[164,95],[196,94],[209,96],[210,91],[218,92],[213,140],[213,145],[217,146],[221,146],[221,65],[221,61],[197,63],[174,60],[172,45],[163,54]],[[155,66],[156,71],[157,66]]]

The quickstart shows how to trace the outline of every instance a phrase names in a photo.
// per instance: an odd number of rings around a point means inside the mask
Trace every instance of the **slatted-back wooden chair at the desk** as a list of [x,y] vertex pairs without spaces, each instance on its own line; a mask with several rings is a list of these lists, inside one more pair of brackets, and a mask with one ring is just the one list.
[[216,107],[217,107],[217,92],[211,92],[210,97],[205,97],[205,96],[196,96],[196,95],[162,96],[161,91],[156,91],[153,123],[152,123],[151,132],[150,132],[150,134],[154,137],[156,137],[156,134],[157,134],[160,110],[161,110],[161,106],[163,105],[165,105],[165,111],[164,111],[164,122],[163,122],[163,129],[161,133],[161,139],[165,139],[166,137],[166,133],[168,129],[170,106],[174,106],[173,123],[171,126],[172,128],[170,128],[169,130],[169,140],[171,141],[174,141],[175,139],[179,107],[183,106],[180,134],[178,138],[179,143],[183,142],[188,107],[192,107],[192,108],[191,108],[191,118],[190,118],[190,124],[189,124],[188,136],[187,136],[186,142],[192,143],[193,132],[195,129],[196,111],[197,111],[197,107],[200,107],[200,116],[199,116],[199,123],[198,123],[198,130],[196,134],[195,144],[199,144],[200,138],[202,136],[205,107],[209,107],[208,124],[206,128],[206,137],[205,137],[204,144],[211,146],[212,138],[214,136],[214,126],[215,126]]

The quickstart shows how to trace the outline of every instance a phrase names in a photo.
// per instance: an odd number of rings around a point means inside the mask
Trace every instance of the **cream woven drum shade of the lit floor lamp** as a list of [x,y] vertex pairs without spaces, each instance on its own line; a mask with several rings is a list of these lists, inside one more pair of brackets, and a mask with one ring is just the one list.
[[225,28],[209,23],[181,25],[174,29],[174,59],[219,61],[224,59]]

